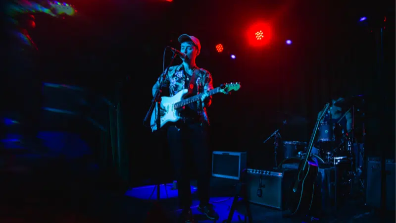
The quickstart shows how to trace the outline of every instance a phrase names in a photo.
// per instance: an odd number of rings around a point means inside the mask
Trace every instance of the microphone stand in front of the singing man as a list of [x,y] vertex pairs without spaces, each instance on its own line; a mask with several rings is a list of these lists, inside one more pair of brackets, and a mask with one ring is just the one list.
[[[161,116],[160,116],[159,111],[160,111],[160,108],[161,108],[161,93],[162,93],[162,87],[164,86],[165,78],[166,78],[166,76],[167,76],[167,74],[168,74],[169,67],[172,66],[173,61],[175,60],[175,58],[176,58],[176,54],[173,53],[172,59],[171,59],[169,65],[168,65],[168,67],[166,67],[165,72],[162,73],[161,82],[160,82],[160,84],[159,84],[159,87],[158,87],[157,91],[155,92],[154,97],[153,97],[152,100],[151,100],[150,109],[148,110],[148,112],[147,112],[147,114],[146,114],[146,117],[145,117],[145,119],[144,119],[144,123],[146,123],[147,120],[148,120],[148,117],[151,116],[152,112],[154,111],[155,105],[156,105],[156,106],[157,106],[157,113],[156,113],[155,115],[156,115],[156,126],[157,126],[157,131],[159,130],[159,128],[160,128],[160,126],[161,126]],[[151,126],[150,126],[150,127],[151,127]],[[157,148],[158,150],[160,149],[159,147],[160,147],[160,146],[158,146],[158,148]],[[160,190],[159,190],[159,186],[160,186],[160,183],[159,183],[159,180],[158,180],[158,183],[155,185],[155,187],[154,187],[154,189],[152,190],[152,193],[151,193],[151,196],[152,196],[152,194],[154,193],[155,189],[157,189],[157,201],[160,200],[160,192],[159,192]],[[166,190],[166,184],[165,184],[165,191],[167,191],[167,190]],[[168,193],[168,192],[166,192],[166,193]],[[150,198],[151,198],[151,196],[150,196]],[[150,198],[149,198],[149,199],[150,199]]]

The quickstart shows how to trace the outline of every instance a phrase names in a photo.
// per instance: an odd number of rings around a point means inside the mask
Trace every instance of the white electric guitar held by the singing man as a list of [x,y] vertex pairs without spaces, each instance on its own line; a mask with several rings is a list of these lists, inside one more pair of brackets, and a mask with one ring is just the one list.
[[[240,88],[241,84],[239,82],[222,84],[220,85],[220,87],[210,90],[209,96],[217,93],[228,94],[231,91],[238,91]],[[201,100],[201,94],[184,99],[187,92],[188,89],[183,89],[173,97],[161,97],[161,104],[163,105],[163,107],[165,107],[166,111],[165,114],[160,117],[160,128],[162,128],[162,126],[164,126],[168,122],[178,121],[181,118],[179,116],[179,111],[183,110],[186,105]],[[152,131],[157,130],[157,109],[157,106],[155,106],[155,109],[151,114],[150,127]]]

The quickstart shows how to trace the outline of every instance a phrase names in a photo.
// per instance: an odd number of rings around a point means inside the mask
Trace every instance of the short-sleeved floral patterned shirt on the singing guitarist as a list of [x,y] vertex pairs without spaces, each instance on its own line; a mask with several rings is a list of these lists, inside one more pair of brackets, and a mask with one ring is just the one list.
[[[188,89],[188,96],[194,96],[204,91],[210,91],[213,89],[212,75],[209,73],[209,71],[196,67],[193,73],[194,74],[190,76],[184,70],[183,64],[171,66],[169,67],[163,88],[167,88],[169,90],[170,97],[176,95],[183,89]],[[159,87],[161,80],[162,74],[153,87],[153,94],[155,94],[155,91]],[[194,117],[198,115],[201,121],[205,121],[207,124],[209,124],[206,107],[209,107],[210,104],[211,96],[208,97],[203,106],[201,101],[189,104],[186,106],[185,111],[181,112],[180,115],[182,117]]]

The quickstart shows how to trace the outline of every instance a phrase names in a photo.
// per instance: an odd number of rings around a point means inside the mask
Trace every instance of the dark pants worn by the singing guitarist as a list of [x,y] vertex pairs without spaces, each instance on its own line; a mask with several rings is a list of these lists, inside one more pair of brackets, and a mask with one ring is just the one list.
[[208,128],[205,124],[181,123],[177,127],[173,125],[168,128],[170,156],[176,172],[180,206],[183,209],[192,205],[192,175],[197,176],[200,204],[209,203],[211,163],[208,141]]

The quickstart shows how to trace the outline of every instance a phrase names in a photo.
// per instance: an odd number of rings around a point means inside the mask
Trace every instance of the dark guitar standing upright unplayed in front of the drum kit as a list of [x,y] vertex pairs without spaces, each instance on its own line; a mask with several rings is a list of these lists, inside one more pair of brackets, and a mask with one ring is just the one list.
[[301,160],[298,166],[297,180],[294,184],[293,190],[290,193],[290,200],[288,209],[292,212],[292,215],[298,213],[306,214],[311,209],[313,201],[313,192],[315,187],[315,180],[318,175],[318,166],[316,163],[308,160],[312,151],[313,141],[318,130],[319,122],[329,109],[330,104],[327,103],[321,111],[318,119],[316,120],[315,127],[309,140],[307,152],[303,160]]

